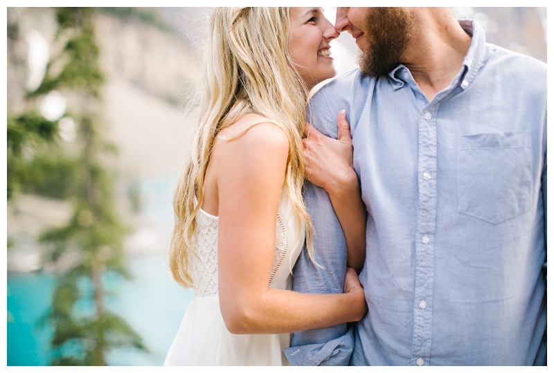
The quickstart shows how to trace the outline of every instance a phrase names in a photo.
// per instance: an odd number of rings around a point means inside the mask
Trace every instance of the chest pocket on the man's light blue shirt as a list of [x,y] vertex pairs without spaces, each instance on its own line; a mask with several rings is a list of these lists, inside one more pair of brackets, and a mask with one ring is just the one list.
[[458,138],[458,210],[498,224],[530,208],[531,134]]

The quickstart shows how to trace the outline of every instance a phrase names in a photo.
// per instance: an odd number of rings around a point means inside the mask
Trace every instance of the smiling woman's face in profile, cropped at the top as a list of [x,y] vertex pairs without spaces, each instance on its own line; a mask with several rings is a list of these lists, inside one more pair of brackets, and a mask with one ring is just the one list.
[[321,8],[291,8],[289,53],[309,89],[337,75],[329,43],[339,36]]

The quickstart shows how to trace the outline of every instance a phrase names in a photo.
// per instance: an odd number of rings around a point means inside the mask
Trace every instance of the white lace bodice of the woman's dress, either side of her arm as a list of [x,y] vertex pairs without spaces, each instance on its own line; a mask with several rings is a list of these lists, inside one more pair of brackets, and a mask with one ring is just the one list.
[[[283,197],[282,197],[283,198]],[[275,287],[274,281],[276,280],[276,275],[281,269],[282,264],[287,257],[289,251],[294,251],[289,253],[290,266],[289,268],[284,268],[284,271],[288,271],[287,274],[292,270],[294,262],[300,253],[301,244],[293,247],[291,250],[289,248],[291,238],[298,241],[298,232],[295,232],[294,237],[289,237],[291,227],[294,227],[296,219],[293,219],[289,212],[290,209],[283,211],[283,203],[280,203],[279,212],[277,214],[276,221],[276,237],[275,237],[275,251],[274,259],[271,264],[271,274],[269,276],[269,286]],[[281,215],[285,212],[286,219],[283,219]],[[293,221],[290,221],[290,220]],[[197,228],[193,235],[193,251],[197,255],[191,255],[190,257],[190,273],[193,276],[193,281],[195,283],[195,295],[201,297],[210,297],[217,295],[217,227],[219,225],[219,218],[213,215],[209,215],[204,210],[200,209],[197,215]],[[297,230],[297,228],[296,228]],[[303,238],[303,233],[302,233]],[[294,242],[292,242],[294,245]],[[297,246],[300,246],[299,248]],[[278,276],[279,279],[283,278],[283,275]],[[287,276],[284,277],[285,280]],[[283,282],[283,281],[280,281]],[[285,284],[276,284],[278,288],[285,288]]]

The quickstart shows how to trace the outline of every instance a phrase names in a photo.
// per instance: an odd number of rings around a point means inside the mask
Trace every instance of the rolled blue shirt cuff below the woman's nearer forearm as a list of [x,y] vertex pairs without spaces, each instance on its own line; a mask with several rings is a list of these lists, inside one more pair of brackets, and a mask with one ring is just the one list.
[[339,338],[328,343],[315,343],[313,345],[294,346],[285,349],[285,356],[291,365],[348,365],[352,350],[354,349],[353,327]]

